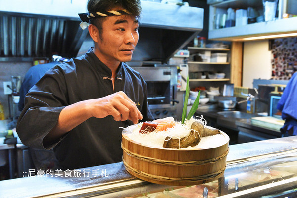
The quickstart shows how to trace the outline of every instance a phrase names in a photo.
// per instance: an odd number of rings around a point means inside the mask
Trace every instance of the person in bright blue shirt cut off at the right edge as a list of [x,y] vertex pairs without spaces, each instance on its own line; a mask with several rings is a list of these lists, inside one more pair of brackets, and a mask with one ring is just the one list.
[[289,80],[277,109],[282,111],[282,119],[285,120],[282,136],[297,135],[297,72]]

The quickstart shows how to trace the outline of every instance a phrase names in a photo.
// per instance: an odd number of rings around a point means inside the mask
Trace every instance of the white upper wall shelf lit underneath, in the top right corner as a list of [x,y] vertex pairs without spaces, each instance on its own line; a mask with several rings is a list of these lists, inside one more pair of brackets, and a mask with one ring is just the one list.
[[[209,6],[208,39],[217,41],[253,41],[257,39],[278,38],[280,37],[278,36],[280,34],[297,33],[297,17],[281,18],[284,12],[282,7],[285,3],[286,1],[279,1],[279,17],[272,21],[257,22],[220,29],[214,29],[215,16],[227,13],[228,8],[247,9],[247,7],[253,7],[258,10],[263,10],[262,0],[225,0],[223,2],[213,3]],[[286,35],[282,35],[281,37],[285,36]]]

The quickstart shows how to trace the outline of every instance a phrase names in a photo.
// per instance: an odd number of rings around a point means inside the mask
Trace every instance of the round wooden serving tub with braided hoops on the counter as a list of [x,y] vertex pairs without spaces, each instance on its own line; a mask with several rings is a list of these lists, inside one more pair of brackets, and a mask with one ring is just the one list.
[[126,170],[139,179],[187,186],[211,182],[224,174],[230,139],[222,131],[226,143],[205,149],[148,147],[131,140],[129,133],[126,129],[122,132],[123,163]]

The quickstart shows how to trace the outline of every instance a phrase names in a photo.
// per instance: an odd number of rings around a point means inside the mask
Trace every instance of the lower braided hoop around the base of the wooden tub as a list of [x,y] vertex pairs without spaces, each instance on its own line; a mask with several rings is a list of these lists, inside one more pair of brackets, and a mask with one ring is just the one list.
[[219,176],[226,169],[226,166],[225,166],[221,170],[218,170],[218,171],[216,171],[214,173],[209,173],[209,174],[206,174],[206,175],[199,175],[199,176],[196,176],[196,177],[173,178],[173,177],[164,177],[164,176],[152,175],[152,174],[148,174],[148,173],[145,173],[143,171],[137,170],[137,169],[131,167],[128,163],[126,163],[124,158],[123,158],[123,163],[124,163],[124,166],[125,166],[125,168],[126,168],[126,170],[128,172],[132,172],[132,173],[134,173],[136,175],[139,175],[141,177],[154,179],[154,180],[158,180],[158,181],[162,181],[162,182],[185,182],[185,181],[187,181],[187,182],[198,182],[198,181],[203,181],[203,180],[209,180],[211,178]]

